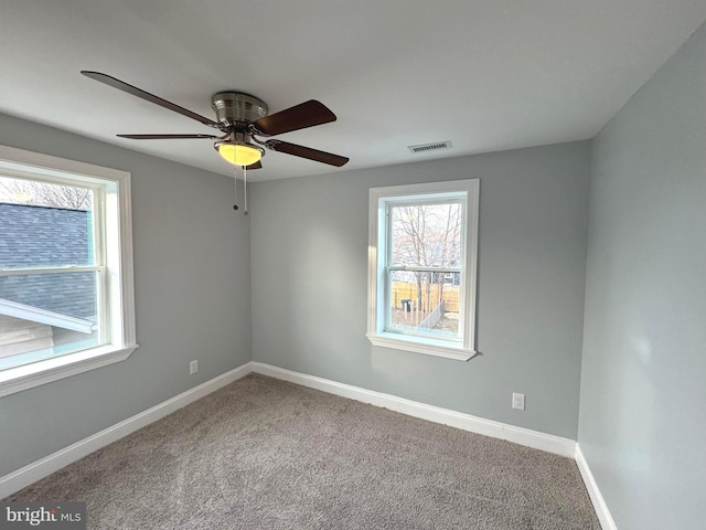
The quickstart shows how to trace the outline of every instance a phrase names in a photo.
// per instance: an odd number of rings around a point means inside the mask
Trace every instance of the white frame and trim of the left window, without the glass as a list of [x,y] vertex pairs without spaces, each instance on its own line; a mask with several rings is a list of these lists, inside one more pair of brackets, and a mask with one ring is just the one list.
[[[99,267],[72,267],[72,271],[103,269],[107,298],[105,315],[99,316],[105,322],[101,346],[2,370],[0,396],[126,360],[138,348],[130,173],[4,146],[0,146],[0,173],[105,190],[105,194],[98,194],[101,199],[95,225],[95,230],[103,231],[105,263]],[[2,274],[6,273],[15,274],[7,271]]]

